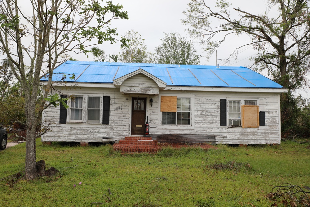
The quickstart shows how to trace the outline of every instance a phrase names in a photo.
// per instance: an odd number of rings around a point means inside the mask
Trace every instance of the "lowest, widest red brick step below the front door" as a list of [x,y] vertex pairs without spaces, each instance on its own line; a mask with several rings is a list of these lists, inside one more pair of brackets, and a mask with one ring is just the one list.
[[119,144],[114,143],[113,149],[122,152],[157,152],[160,149],[158,145],[141,145],[141,144]]

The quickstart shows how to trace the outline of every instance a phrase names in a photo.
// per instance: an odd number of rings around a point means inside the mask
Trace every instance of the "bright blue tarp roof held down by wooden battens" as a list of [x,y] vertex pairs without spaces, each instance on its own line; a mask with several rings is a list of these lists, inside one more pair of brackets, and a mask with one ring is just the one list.
[[[167,85],[282,88],[278,83],[246,67],[87,61],[62,63],[54,70],[52,81],[113,83],[113,80],[139,69],[161,79]],[[76,80],[69,79],[72,74],[75,74]],[[46,77],[41,80],[45,81]]]

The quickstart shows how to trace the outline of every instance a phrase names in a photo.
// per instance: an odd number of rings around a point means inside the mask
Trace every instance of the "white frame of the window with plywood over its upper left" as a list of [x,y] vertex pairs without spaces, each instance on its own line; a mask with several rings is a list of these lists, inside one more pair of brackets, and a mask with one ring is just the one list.
[[[162,94],[158,97],[159,100],[161,100],[161,96],[171,96],[171,94]],[[193,129],[194,128],[194,120],[195,120],[195,107],[194,107],[194,96],[193,95],[183,95],[183,94],[178,94],[175,95],[177,98],[190,98],[191,102],[191,109],[189,111],[179,111],[179,112],[190,112],[190,124],[177,124],[177,113],[178,110],[175,112],[175,124],[170,125],[170,124],[162,124],[162,111],[160,111],[160,106],[158,107],[158,128],[159,129]],[[159,101],[160,103],[160,101]]]

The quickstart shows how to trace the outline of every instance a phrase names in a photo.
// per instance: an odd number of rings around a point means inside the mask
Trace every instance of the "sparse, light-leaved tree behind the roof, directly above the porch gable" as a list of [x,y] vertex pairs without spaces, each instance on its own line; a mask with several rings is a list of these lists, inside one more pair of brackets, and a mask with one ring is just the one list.
[[[146,46],[144,45],[144,39],[142,36],[134,30],[127,31],[125,35],[126,39],[129,39],[127,47],[122,48],[121,54],[118,56],[118,60],[127,63],[153,63],[153,54],[146,52]],[[113,58],[112,58],[113,59]]]

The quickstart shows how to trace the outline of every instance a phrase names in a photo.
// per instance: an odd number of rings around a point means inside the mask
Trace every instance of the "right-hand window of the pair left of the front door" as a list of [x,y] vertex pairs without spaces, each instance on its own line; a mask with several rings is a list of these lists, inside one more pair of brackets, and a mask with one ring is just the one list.
[[100,122],[100,96],[88,97],[87,122]]

